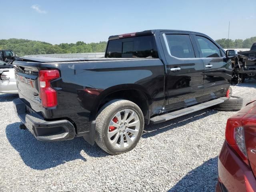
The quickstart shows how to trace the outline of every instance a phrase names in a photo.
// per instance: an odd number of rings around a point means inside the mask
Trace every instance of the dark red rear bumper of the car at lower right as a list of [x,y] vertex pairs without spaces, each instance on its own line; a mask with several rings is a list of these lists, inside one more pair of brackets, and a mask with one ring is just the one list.
[[217,192],[253,192],[256,180],[248,167],[225,141],[218,159]]

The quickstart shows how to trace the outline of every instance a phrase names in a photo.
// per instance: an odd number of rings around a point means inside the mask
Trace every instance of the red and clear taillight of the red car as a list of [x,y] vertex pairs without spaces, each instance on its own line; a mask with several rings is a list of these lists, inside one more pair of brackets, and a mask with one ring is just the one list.
[[226,141],[242,160],[249,165],[244,141],[244,127],[238,118],[229,118],[226,125]]

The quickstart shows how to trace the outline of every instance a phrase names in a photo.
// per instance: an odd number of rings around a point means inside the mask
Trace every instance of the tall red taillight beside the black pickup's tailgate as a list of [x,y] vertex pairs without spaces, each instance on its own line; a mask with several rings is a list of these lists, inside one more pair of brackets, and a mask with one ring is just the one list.
[[57,106],[57,92],[51,88],[50,81],[60,77],[58,70],[40,70],[39,71],[39,85],[40,85],[40,98],[43,107]]

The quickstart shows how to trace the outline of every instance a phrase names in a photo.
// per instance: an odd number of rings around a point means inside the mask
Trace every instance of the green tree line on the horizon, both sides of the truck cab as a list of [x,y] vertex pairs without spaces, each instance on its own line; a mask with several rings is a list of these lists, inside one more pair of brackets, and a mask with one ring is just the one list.
[[[218,39],[216,40],[222,48],[251,48],[256,42],[256,36],[242,39]],[[0,49],[13,50],[18,56],[36,55],[36,54],[60,54],[60,53],[92,53],[105,52],[107,46],[106,41],[98,43],[85,43],[78,41],[76,43],[50,44],[42,41],[33,41],[27,39],[1,39]]]

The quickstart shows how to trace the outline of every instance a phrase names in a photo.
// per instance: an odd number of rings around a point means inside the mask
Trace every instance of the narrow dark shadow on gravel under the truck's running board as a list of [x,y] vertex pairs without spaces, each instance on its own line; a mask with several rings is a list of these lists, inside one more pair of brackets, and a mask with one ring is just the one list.
[[142,138],[155,136],[162,132],[166,132],[168,130],[178,128],[190,122],[200,120],[206,116],[213,115],[216,113],[218,113],[218,111],[211,110],[210,108],[208,108],[208,109],[200,110],[197,112],[193,112],[191,114],[180,116],[178,118],[166,121],[164,123],[146,125],[144,128],[144,132],[142,134]]

